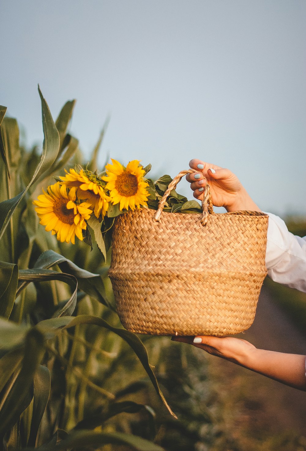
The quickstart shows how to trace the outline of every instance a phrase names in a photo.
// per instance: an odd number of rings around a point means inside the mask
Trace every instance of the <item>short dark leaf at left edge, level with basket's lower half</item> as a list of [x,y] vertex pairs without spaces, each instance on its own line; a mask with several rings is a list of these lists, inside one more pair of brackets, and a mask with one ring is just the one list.
[[0,316],[9,318],[18,284],[18,266],[0,262]]

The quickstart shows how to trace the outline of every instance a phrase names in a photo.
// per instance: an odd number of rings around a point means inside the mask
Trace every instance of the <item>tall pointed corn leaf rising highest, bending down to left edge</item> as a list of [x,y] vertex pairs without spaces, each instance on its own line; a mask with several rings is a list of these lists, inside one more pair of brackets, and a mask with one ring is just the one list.
[[10,218],[13,216],[19,202],[23,199],[30,186],[37,180],[38,176],[45,172],[56,160],[59,152],[60,137],[56,126],[52,120],[50,110],[38,87],[38,92],[42,101],[42,126],[44,132],[44,141],[42,145],[42,157],[34,172],[32,180],[27,188],[12,199],[0,202],[0,239],[2,238]]

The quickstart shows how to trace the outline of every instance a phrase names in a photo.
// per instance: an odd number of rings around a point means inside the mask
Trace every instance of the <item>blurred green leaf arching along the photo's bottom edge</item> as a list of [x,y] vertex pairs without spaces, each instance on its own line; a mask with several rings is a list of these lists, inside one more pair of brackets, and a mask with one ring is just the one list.
[[88,432],[86,430],[70,433],[67,438],[56,444],[54,450],[66,450],[74,447],[78,449],[100,448],[106,444],[131,446],[138,451],[164,451],[161,446],[136,435],[121,432]]

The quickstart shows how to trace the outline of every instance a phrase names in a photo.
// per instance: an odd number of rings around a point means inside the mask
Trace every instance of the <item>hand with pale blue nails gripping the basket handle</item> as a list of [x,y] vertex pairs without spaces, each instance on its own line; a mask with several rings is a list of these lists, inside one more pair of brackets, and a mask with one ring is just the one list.
[[190,160],[189,166],[199,171],[198,174],[186,175],[196,199],[203,199],[203,190],[206,185],[205,179],[207,179],[214,206],[224,207],[227,212],[237,210],[255,210],[260,212],[260,208],[253,202],[239,179],[229,169],[196,159]]

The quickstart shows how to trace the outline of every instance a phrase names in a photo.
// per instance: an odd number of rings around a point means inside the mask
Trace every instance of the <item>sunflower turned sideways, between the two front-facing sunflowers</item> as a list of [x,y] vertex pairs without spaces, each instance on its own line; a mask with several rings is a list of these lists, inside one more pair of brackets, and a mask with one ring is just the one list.
[[79,172],[74,169],[70,169],[69,173],[66,170],[65,172],[66,175],[60,177],[62,182],[68,188],[76,188],[78,198],[88,201],[97,218],[100,214],[104,217],[111,199],[103,189],[102,180],[93,172],[83,169],[80,169]]

